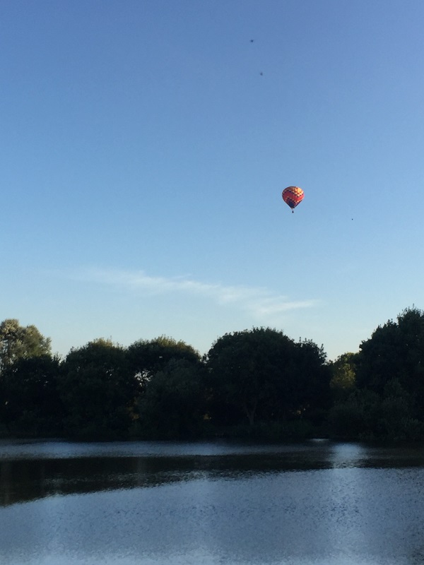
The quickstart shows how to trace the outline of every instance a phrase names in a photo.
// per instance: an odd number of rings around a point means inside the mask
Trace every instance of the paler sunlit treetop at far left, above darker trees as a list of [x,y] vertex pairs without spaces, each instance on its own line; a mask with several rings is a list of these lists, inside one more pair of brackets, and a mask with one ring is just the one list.
[[0,370],[13,364],[16,359],[51,355],[50,339],[35,326],[20,326],[16,319],[0,323]]

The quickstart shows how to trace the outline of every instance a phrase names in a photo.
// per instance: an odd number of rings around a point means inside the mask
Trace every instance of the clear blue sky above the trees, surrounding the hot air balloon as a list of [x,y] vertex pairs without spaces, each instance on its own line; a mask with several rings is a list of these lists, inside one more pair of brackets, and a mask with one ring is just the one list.
[[423,29],[420,0],[3,0],[0,319],[334,359],[423,308]]

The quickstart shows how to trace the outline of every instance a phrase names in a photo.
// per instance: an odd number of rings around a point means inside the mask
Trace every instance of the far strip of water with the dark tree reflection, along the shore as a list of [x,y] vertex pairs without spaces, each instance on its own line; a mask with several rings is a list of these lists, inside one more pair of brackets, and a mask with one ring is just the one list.
[[0,504],[54,494],[157,486],[260,472],[424,466],[424,449],[310,441],[225,443],[0,443]]

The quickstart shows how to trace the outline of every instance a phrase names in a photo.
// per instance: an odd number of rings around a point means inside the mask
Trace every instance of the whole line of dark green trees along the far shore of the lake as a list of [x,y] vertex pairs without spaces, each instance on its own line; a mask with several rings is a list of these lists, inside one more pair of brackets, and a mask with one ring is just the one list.
[[201,356],[161,336],[52,355],[0,323],[0,434],[80,440],[424,439],[424,312],[404,310],[333,362],[272,328],[226,333]]

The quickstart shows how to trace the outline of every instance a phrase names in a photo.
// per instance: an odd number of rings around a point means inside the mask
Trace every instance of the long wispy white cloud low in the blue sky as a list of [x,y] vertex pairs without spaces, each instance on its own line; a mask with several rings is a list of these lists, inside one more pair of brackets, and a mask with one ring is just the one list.
[[290,310],[311,308],[318,304],[314,299],[293,301],[285,295],[261,287],[202,283],[187,276],[154,277],[146,275],[143,270],[90,268],[74,273],[73,276],[78,280],[111,285],[136,294],[165,295],[179,292],[206,297],[216,304],[233,305],[247,311],[261,321],[273,319]]

